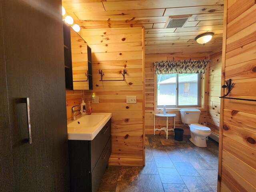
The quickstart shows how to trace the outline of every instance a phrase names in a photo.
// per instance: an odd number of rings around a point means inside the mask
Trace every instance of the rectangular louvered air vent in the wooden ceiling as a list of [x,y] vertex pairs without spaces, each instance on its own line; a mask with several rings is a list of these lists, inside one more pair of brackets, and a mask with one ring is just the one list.
[[164,29],[181,28],[188,22],[189,18],[190,15],[169,16],[164,25]]

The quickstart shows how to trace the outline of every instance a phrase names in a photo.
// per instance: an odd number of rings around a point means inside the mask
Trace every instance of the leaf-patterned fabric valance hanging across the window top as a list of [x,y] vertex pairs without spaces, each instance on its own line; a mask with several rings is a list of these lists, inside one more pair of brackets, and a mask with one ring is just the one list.
[[155,74],[205,73],[208,60],[154,62]]

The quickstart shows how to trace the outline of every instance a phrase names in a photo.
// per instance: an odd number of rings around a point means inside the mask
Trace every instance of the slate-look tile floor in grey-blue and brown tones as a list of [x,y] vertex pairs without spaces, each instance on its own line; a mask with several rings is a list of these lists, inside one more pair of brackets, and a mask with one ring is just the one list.
[[189,138],[146,135],[146,165],[109,166],[98,192],[216,192],[218,143],[199,148]]

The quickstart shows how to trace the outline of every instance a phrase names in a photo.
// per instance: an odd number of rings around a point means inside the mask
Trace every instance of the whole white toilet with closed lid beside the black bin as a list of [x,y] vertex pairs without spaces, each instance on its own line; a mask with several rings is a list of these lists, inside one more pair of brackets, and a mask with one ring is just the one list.
[[181,120],[182,123],[188,124],[190,127],[189,139],[195,146],[207,147],[206,137],[211,134],[210,128],[198,124],[201,111],[198,109],[181,109]]

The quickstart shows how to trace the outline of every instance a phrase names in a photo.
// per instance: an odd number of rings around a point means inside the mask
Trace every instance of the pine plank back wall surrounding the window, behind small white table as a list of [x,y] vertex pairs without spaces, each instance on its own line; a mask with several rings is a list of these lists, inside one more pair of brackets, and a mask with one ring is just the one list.
[[[168,55],[168,56],[159,56],[159,55],[147,55],[145,59],[145,128],[146,134],[154,134],[154,113],[162,113],[160,109],[154,107],[154,88],[155,88],[155,79],[154,79],[154,63],[155,61],[167,61],[167,60],[196,60],[196,59],[208,59],[208,55]],[[206,75],[208,77],[208,75]],[[204,78],[204,75],[202,76]],[[207,82],[207,80],[206,80]],[[205,86],[207,88],[207,86]],[[207,91],[204,91],[202,96],[202,101],[204,102],[203,108],[200,108],[200,120],[199,123],[204,124],[206,122],[206,97]],[[167,109],[167,113],[176,114],[176,128],[183,128],[185,135],[190,135],[190,129],[187,125],[181,121],[180,110],[179,109]],[[156,128],[166,127],[166,119],[161,117],[156,117]],[[173,128],[173,120],[169,118],[168,128]],[[156,131],[155,134],[166,134],[164,131]],[[172,131],[169,134],[173,134]]]

